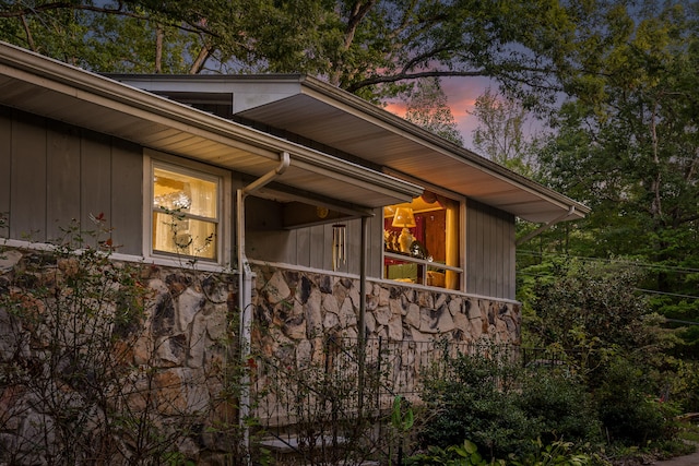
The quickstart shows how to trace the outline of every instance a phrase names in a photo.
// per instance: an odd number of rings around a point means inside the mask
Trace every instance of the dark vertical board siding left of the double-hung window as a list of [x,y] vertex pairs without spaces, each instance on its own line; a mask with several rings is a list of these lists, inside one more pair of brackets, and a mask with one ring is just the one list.
[[118,252],[142,254],[140,146],[0,106],[0,213],[11,239],[47,242],[104,214]]

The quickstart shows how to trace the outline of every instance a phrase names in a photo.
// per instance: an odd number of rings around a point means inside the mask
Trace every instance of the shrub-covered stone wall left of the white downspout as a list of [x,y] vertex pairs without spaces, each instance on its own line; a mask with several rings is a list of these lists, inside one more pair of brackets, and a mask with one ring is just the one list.
[[[82,266],[0,250],[0,465],[239,457],[225,438],[237,428],[225,368],[235,277],[110,261],[104,279],[85,278],[102,295],[73,309],[79,289],[66,285]],[[144,304],[127,323],[126,267]]]

